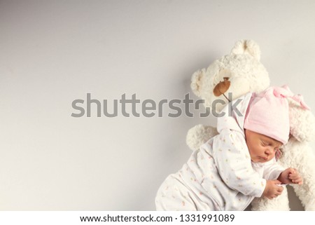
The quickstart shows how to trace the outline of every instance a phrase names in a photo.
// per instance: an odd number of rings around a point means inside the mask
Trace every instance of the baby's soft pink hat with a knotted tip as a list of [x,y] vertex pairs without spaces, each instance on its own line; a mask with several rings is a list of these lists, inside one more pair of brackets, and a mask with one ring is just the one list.
[[290,135],[287,97],[300,103],[303,109],[309,109],[302,95],[293,95],[288,86],[270,87],[262,93],[253,93],[244,128],[286,144]]

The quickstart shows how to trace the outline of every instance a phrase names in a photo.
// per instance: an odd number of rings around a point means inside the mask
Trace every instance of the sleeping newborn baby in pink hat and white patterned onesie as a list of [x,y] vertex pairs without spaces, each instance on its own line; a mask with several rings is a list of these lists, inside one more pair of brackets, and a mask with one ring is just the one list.
[[[290,135],[287,97],[309,109],[287,86],[230,102],[218,117],[219,134],[162,183],[156,209],[244,210],[255,197],[279,196],[281,184],[302,184],[297,170],[282,168],[275,158]],[[237,110],[231,110],[236,101]]]

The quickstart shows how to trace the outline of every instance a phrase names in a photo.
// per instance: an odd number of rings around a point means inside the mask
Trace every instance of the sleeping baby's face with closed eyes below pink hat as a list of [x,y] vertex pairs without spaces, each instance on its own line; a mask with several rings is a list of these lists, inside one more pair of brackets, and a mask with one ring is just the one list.
[[282,143],[271,137],[261,135],[258,132],[245,130],[246,144],[251,155],[251,161],[265,163],[274,158],[274,154],[281,147]]

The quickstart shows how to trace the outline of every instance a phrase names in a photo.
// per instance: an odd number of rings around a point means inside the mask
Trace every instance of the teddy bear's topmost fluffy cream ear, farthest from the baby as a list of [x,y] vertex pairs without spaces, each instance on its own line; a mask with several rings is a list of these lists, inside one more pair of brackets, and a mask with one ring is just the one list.
[[252,40],[240,40],[235,43],[232,48],[232,54],[248,54],[255,57],[256,60],[260,61],[260,48],[255,41]]

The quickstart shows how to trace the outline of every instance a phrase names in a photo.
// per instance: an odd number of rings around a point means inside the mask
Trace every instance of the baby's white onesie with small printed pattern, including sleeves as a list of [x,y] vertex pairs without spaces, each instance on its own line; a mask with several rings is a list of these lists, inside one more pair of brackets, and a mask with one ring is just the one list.
[[[244,210],[253,198],[262,196],[266,179],[279,177],[284,169],[275,159],[251,161],[244,135],[251,93],[239,100],[228,104],[222,111],[225,116],[218,117],[219,134],[162,183],[155,198],[157,210]],[[237,111],[229,116],[233,104],[242,116]]]

